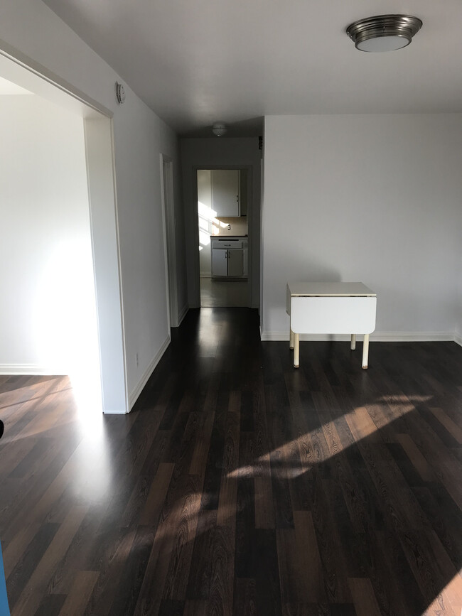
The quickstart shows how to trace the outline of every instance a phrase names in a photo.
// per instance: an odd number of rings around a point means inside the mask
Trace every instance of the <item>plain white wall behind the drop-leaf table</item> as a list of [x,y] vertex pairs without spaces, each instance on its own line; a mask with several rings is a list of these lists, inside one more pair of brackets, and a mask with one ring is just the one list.
[[453,337],[462,115],[267,117],[264,144],[264,337],[289,279],[364,282],[377,335]]

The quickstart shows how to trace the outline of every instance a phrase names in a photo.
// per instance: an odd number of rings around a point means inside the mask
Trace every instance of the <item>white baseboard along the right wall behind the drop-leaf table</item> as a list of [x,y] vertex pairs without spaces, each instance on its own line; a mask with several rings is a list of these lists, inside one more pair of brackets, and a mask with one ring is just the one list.
[[[263,332],[260,330],[262,341],[289,341],[289,332]],[[360,338],[360,336],[358,336]],[[350,340],[345,334],[300,334],[303,341],[343,342]],[[448,342],[456,341],[453,332],[374,332],[370,335],[371,342]]]

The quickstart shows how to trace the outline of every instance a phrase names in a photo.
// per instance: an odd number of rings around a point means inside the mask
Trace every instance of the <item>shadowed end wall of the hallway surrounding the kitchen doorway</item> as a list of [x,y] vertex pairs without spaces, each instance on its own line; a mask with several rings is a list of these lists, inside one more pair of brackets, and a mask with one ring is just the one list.
[[[247,215],[249,244],[252,243],[252,261],[249,263],[251,280],[251,306],[259,306],[260,271],[260,173],[262,152],[258,139],[181,139],[181,168],[183,178],[183,205],[186,225],[186,260],[188,273],[188,303],[200,306],[197,203],[195,202],[195,178],[198,168],[248,167],[252,173],[252,213]],[[249,220],[251,219],[251,220]]]

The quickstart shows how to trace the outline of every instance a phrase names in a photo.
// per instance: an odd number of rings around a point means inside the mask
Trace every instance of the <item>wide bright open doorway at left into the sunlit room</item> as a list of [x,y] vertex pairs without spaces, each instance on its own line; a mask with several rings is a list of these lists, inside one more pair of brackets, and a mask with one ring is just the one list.
[[3,52],[0,74],[26,90],[3,102],[1,373],[68,374],[85,414],[125,413],[112,114]]

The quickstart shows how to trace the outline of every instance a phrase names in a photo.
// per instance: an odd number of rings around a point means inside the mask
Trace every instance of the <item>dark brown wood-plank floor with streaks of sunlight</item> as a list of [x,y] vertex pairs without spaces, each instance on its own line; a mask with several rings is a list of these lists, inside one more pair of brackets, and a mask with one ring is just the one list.
[[134,411],[0,377],[11,614],[461,615],[462,348],[188,313]]

